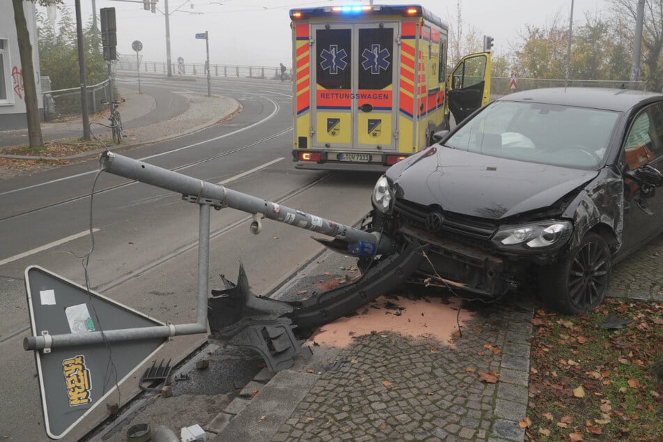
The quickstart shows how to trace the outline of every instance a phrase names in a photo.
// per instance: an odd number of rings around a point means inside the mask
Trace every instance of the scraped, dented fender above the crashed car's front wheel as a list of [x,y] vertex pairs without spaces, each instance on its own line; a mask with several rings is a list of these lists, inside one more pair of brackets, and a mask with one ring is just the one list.
[[624,228],[624,183],[612,169],[604,168],[592,183],[567,206],[563,218],[573,220],[569,247],[577,247],[585,234],[599,224],[609,227],[614,238],[608,241],[613,252],[622,243]]

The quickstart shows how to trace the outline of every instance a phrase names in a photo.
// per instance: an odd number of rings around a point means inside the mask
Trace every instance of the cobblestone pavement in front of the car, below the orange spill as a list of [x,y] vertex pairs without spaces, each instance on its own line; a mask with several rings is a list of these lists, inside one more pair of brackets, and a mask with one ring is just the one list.
[[[269,395],[270,384],[254,382],[228,406],[224,422],[211,424],[214,440],[522,441],[533,309],[530,300],[512,298],[482,306],[451,343],[388,331],[357,337],[333,356],[346,360],[336,371],[296,364],[275,375],[273,383],[284,372],[314,380],[273,432],[260,434],[261,419],[270,418],[260,412],[224,431],[252,395]],[[480,372],[498,380],[483,381]]]

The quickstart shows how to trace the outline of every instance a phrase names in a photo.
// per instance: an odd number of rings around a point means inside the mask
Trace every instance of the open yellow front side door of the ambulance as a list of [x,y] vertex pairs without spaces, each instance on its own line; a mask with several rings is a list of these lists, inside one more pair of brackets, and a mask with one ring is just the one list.
[[490,52],[464,56],[447,82],[445,115],[460,123],[490,100]]

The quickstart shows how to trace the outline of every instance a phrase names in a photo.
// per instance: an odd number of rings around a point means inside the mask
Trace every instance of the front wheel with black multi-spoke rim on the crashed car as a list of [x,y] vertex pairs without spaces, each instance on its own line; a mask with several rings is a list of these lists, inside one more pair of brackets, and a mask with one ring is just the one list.
[[605,299],[611,270],[608,244],[602,236],[588,233],[561,261],[541,269],[542,296],[558,312],[588,312]]

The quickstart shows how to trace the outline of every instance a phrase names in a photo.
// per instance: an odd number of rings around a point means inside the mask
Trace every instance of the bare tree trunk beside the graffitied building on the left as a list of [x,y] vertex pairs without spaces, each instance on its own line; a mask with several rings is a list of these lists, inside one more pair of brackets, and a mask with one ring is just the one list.
[[[61,0],[32,0],[42,6],[61,3]],[[12,0],[14,7],[14,23],[16,25],[16,38],[18,42],[21,69],[23,70],[23,87],[25,93],[25,111],[28,123],[28,139],[30,147],[36,150],[44,148],[44,139],[41,134],[39,118],[39,105],[37,103],[37,87],[35,84],[35,68],[32,63],[32,45],[30,32],[25,21],[23,0]]]

